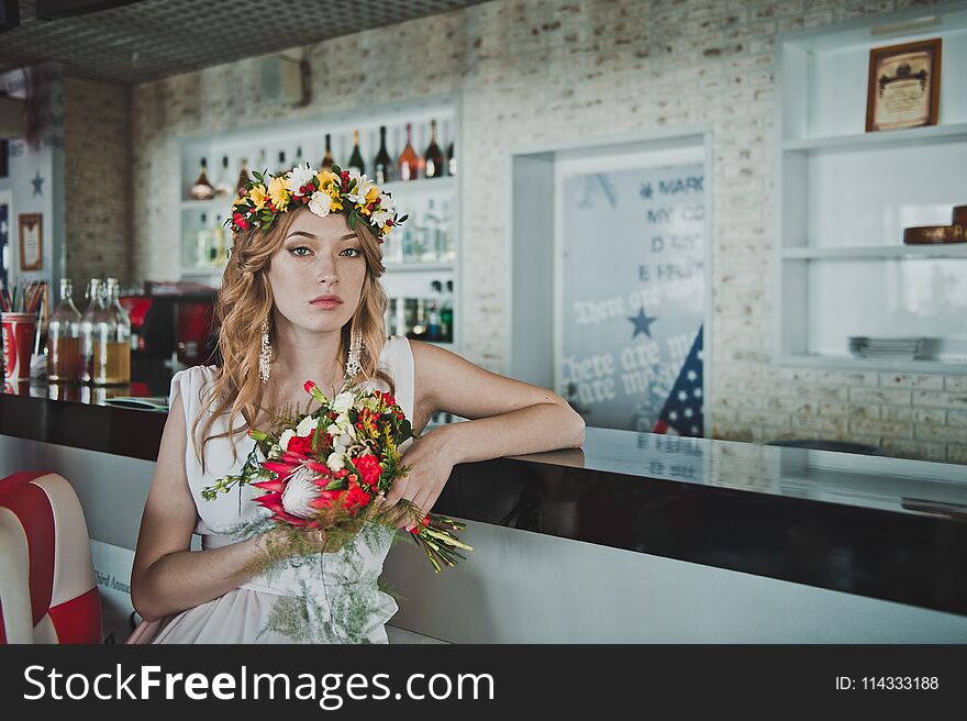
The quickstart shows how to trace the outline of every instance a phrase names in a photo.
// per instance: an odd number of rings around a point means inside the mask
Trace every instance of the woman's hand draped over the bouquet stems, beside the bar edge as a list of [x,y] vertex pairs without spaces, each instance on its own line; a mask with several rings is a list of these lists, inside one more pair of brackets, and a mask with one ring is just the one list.
[[[423,519],[436,503],[443,487],[449,480],[454,462],[441,430],[431,431],[414,439],[403,451],[400,463],[410,466],[410,473],[398,478],[387,492],[382,510],[399,508],[397,528],[408,531]],[[413,518],[400,499],[408,499],[420,509],[420,518]]]

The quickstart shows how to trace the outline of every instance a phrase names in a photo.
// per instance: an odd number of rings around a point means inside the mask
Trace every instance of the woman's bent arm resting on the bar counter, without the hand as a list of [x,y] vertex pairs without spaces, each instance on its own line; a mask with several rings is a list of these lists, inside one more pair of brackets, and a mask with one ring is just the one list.
[[[485,370],[445,348],[411,341],[416,398],[469,419],[432,431],[454,464],[578,448],[585,420],[552,390]],[[427,434],[429,435],[429,434]]]

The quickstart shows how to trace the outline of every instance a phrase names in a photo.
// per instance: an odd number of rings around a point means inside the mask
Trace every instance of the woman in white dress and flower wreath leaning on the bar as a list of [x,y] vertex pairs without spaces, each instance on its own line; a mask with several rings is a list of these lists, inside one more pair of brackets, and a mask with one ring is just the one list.
[[[260,508],[251,502],[257,491],[245,486],[237,499],[205,501],[200,489],[238,472],[251,441],[242,453],[236,442],[245,443],[249,428],[264,428],[275,409],[314,410],[307,379],[330,398],[351,380],[392,392],[416,433],[437,411],[469,419],[401,446],[411,470],[384,508],[409,499],[429,513],[457,463],[583,442],[581,417],[554,392],[429,343],[386,337],[381,243],[405,218],[392,213],[392,199],[366,176],[316,174],[307,165],[258,180],[235,201],[233,248],[215,309],[221,366],[188,368],[171,379],[131,578],[132,601],[145,621],[131,643],[293,640],[263,626],[280,597],[298,595],[294,581],[246,570],[270,534],[235,541],[226,531],[257,518]],[[236,428],[240,415],[245,422]],[[399,528],[415,522],[399,514]],[[190,550],[192,533],[202,536],[201,551]],[[325,532],[307,534],[322,552]],[[363,629],[377,643],[387,642],[384,623],[397,611],[376,589],[392,534],[357,544],[352,556],[337,551],[331,564],[326,556],[336,583],[358,588],[362,578],[378,594],[379,610]],[[340,641],[338,631],[325,640]]]

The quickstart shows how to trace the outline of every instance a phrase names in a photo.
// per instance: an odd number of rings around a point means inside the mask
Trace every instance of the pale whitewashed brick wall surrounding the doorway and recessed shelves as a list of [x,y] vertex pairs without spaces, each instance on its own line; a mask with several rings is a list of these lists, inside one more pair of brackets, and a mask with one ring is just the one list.
[[[256,60],[133,91],[134,273],[173,278],[178,137],[425,95],[464,98],[463,321],[471,360],[505,368],[510,152],[707,123],[714,177],[712,432],[824,437],[967,463],[967,379],[773,367],[773,36],[915,2],[499,0],[329,41],[312,106],[258,101]],[[920,3],[931,4],[931,3]],[[346,58],[346,59],[340,59]],[[152,192],[145,192],[151,186]]]

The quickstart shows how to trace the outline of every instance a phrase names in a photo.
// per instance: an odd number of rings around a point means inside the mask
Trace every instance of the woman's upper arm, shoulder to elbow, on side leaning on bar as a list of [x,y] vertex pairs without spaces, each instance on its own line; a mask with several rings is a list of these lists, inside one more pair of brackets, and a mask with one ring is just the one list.
[[553,390],[492,373],[432,343],[410,341],[418,402],[469,420],[535,403],[567,404]]

